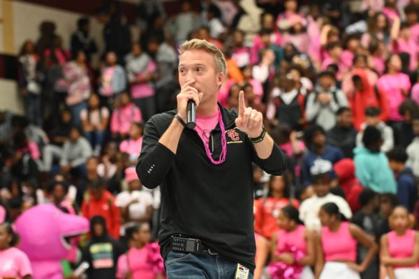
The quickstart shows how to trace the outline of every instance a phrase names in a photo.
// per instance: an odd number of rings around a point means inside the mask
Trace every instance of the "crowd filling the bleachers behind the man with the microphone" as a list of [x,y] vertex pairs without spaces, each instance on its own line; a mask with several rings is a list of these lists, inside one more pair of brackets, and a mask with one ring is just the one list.
[[54,22],[22,45],[25,114],[0,112],[0,277],[31,278],[10,223],[51,203],[91,222],[73,269],[163,278],[147,265],[160,192],[135,165],[145,123],[176,107],[177,48],[199,38],[226,57],[219,103],[237,110],[244,91],[288,157],[283,176],[253,167],[254,278],[419,278],[419,1],[255,0],[260,22],[237,0],[180,2],[168,16],[142,1],[138,41],[110,1],[100,44],[83,17],[69,49]]

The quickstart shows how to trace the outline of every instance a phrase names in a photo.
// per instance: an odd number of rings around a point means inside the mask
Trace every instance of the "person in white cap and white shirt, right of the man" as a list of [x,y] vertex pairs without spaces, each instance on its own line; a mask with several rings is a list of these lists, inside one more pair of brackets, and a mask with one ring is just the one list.
[[300,220],[307,229],[320,231],[321,223],[318,219],[318,211],[323,204],[334,202],[348,220],[352,217],[352,211],[348,202],[342,197],[330,193],[330,172],[332,163],[327,160],[317,159],[311,167],[311,185],[314,189],[314,196],[305,199],[300,205]]

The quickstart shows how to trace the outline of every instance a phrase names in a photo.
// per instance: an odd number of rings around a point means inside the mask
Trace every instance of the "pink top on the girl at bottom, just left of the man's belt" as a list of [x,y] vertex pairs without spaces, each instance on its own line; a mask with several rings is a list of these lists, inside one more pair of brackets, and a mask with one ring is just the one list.
[[147,256],[147,248],[130,248],[128,259],[126,254],[121,255],[118,259],[117,278],[127,278],[128,271],[130,271],[132,279],[155,279],[156,274],[147,264]]

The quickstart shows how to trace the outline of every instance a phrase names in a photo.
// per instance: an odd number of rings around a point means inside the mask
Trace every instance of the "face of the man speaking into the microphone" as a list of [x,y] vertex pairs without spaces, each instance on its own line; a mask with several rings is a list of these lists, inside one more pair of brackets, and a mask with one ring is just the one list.
[[224,74],[216,69],[212,54],[204,50],[186,50],[179,57],[179,84],[182,87],[189,80],[191,86],[203,93],[202,103],[216,100],[219,86],[223,84]]

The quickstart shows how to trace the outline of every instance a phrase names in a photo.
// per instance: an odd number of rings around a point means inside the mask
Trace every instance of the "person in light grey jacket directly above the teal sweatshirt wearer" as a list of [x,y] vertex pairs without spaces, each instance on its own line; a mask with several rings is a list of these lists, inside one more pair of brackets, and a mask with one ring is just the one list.
[[381,140],[383,140],[383,144],[381,144],[381,151],[388,152],[390,151],[394,145],[395,140],[393,137],[393,130],[390,126],[385,124],[380,119],[381,110],[378,107],[367,107],[365,109],[365,123],[361,124],[361,130],[356,135],[356,146],[362,146],[362,137],[364,136],[364,130],[367,126],[372,126],[377,128],[381,133]]

